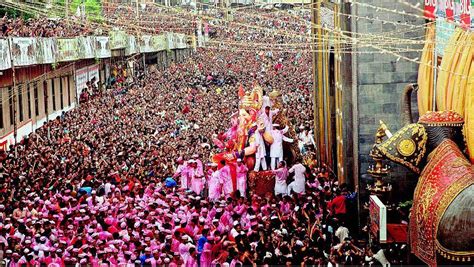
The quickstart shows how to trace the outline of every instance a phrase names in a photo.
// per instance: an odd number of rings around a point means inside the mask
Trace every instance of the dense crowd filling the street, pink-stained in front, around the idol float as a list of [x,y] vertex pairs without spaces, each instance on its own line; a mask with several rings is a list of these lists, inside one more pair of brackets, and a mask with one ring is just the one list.
[[[273,38],[214,27],[217,36]],[[116,71],[106,91],[89,82],[79,108],[2,155],[3,264],[386,264],[384,250],[354,238],[353,188],[324,164],[280,162],[286,176],[277,186],[287,185],[289,172],[303,183],[275,188],[279,194],[231,188],[210,196],[218,172],[210,156],[222,151],[213,139],[230,126],[240,86],[279,90],[282,112],[304,133],[295,140],[301,152],[314,150],[310,63],[307,53],[199,49],[133,82]],[[179,178],[188,165],[202,171],[200,190]]]

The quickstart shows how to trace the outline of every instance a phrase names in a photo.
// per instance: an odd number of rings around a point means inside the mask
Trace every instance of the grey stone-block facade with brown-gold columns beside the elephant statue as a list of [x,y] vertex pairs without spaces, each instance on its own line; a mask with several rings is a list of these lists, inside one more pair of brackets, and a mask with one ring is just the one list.
[[[408,2],[415,5],[419,1]],[[425,21],[421,16],[408,15],[414,13],[411,7],[389,0],[324,1],[314,12],[314,23],[322,25],[314,34],[333,36],[318,38],[331,41],[315,43],[330,51],[314,54],[319,154],[340,182],[359,185],[365,199],[365,188],[373,182],[367,170],[374,164],[369,153],[379,121],[392,132],[401,128],[402,92],[407,84],[417,82],[419,67],[405,58],[419,58],[418,50],[422,49],[422,45],[410,45],[409,49],[392,52],[394,49],[385,44],[390,42],[384,43],[380,36],[388,36],[386,40],[424,36]],[[350,39],[351,32],[357,33],[356,38]],[[396,44],[393,47],[398,48]],[[416,95],[412,99],[416,110]],[[416,177],[402,167],[387,164],[392,168],[387,182],[397,192],[396,198],[411,198]]]

